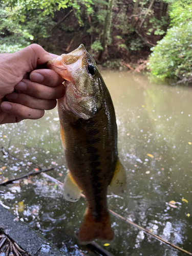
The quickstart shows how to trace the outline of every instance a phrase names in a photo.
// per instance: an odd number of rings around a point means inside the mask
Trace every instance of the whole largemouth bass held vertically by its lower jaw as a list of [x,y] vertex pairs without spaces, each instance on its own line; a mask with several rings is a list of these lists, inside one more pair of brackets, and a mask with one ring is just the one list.
[[65,96],[58,99],[60,138],[69,168],[64,181],[66,200],[75,202],[83,191],[87,200],[77,234],[79,244],[111,241],[107,193],[120,193],[126,183],[118,158],[113,102],[94,58],[81,44],[47,63],[65,79]]

